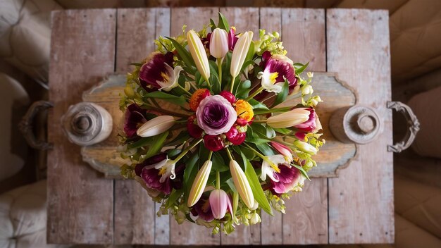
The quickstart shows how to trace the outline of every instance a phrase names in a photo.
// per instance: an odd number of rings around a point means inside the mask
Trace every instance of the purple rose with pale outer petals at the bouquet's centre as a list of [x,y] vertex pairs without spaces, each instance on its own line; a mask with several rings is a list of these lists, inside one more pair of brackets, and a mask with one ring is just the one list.
[[237,113],[227,99],[220,95],[209,96],[201,101],[196,110],[197,125],[208,135],[228,132],[236,122]]

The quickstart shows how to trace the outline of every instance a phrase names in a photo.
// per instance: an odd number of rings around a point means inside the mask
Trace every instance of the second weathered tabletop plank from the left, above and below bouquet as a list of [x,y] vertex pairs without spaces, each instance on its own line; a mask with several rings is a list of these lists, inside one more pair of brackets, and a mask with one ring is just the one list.
[[[168,35],[169,18],[169,9],[118,9],[117,73],[129,72],[130,63],[142,61],[154,51],[156,31]],[[157,240],[155,226],[160,221],[156,220],[155,203],[135,180],[115,181],[115,213],[115,244],[168,244],[168,235],[162,234]],[[168,229],[168,222],[165,224]],[[163,225],[161,230],[166,233]]]

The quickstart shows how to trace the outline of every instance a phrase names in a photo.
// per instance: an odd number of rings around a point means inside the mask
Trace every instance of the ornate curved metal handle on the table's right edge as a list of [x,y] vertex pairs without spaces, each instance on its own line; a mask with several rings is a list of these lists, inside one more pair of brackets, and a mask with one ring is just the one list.
[[407,132],[401,142],[397,142],[393,145],[387,145],[387,151],[402,152],[403,150],[410,147],[412,142],[414,142],[416,133],[420,130],[420,123],[416,118],[414,111],[411,110],[409,106],[403,104],[401,101],[387,101],[387,109],[395,109],[404,115],[407,120]]

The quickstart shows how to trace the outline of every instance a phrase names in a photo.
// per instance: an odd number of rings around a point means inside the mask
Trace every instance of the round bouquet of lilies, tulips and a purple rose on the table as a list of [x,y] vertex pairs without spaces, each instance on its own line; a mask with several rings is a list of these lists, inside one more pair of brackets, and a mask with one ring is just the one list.
[[158,214],[213,233],[259,223],[261,209],[285,213],[324,142],[307,64],[285,56],[277,32],[236,33],[219,13],[218,25],[159,37],[120,101],[121,174],[162,204]]

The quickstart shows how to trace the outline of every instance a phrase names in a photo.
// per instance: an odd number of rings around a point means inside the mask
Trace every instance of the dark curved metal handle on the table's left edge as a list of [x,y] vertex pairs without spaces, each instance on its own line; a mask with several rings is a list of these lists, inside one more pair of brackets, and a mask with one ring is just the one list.
[[25,116],[23,116],[20,124],[18,124],[20,131],[23,133],[23,136],[25,136],[27,144],[29,144],[30,147],[40,150],[52,149],[54,147],[54,144],[52,143],[37,140],[34,132],[32,132],[32,123],[37,113],[50,109],[53,106],[54,104],[51,101],[35,101],[35,103],[33,103],[27,110]]

